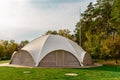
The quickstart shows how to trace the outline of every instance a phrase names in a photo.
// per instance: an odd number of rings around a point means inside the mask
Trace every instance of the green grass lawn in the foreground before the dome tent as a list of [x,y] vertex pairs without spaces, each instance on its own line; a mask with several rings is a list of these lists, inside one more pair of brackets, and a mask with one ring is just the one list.
[[[77,73],[78,76],[65,76],[65,73]],[[0,67],[0,80],[120,80],[120,66],[84,69]]]

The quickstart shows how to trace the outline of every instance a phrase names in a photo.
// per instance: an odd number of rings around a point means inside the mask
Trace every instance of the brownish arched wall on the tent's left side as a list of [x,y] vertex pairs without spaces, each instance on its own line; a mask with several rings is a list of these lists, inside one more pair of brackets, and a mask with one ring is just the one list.
[[29,52],[25,50],[16,51],[12,56],[10,64],[24,65],[24,66],[34,66],[35,62],[33,61],[32,56]]

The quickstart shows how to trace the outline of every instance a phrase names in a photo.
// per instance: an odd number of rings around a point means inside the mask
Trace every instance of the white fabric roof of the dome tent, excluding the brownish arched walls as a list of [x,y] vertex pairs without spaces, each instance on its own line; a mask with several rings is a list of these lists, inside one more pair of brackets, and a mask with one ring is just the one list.
[[26,50],[30,53],[30,55],[33,57],[34,62],[36,63],[35,66],[38,66],[39,62],[48,53],[55,50],[65,50],[70,52],[78,59],[80,65],[82,66],[83,58],[86,53],[75,42],[59,35],[41,36],[31,41],[29,44],[23,47],[22,50]]

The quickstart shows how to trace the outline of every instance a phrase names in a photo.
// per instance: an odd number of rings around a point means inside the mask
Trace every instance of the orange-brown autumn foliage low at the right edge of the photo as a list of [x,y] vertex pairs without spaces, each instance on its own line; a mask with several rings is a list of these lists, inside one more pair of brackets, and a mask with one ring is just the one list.
[[114,39],[113,37],[109,37],[106,40],[102,41],[102,48],[105,58],[115,58],[116,63],[118,58],[120,58],[120,36],[116,36]]

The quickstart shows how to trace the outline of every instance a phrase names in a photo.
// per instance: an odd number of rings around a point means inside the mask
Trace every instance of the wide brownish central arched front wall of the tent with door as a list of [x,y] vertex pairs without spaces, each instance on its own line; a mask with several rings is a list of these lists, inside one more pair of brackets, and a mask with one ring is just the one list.
[[39,63],[39,67],[80,67],[77,58],[70,52],[56,50],[48,53]]

